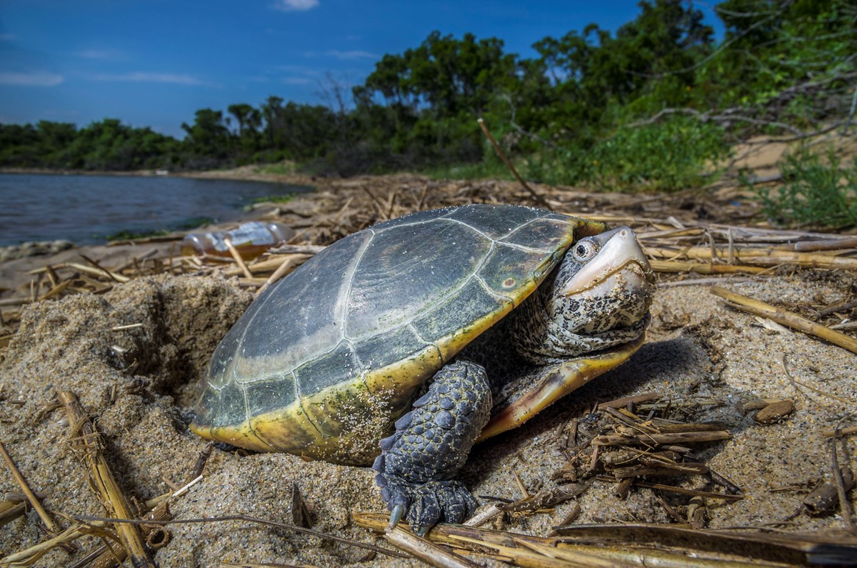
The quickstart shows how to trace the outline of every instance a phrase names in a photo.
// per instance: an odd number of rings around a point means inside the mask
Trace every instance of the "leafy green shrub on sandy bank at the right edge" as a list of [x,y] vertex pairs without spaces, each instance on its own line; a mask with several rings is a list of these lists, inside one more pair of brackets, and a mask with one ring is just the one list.
[[780,167],[782,185],[744,183],[762,200],[764,214],[778,225],[843,228],[857,226],[857,160],[843,167],[831,150],[827,163],[806,149],[788,154]]

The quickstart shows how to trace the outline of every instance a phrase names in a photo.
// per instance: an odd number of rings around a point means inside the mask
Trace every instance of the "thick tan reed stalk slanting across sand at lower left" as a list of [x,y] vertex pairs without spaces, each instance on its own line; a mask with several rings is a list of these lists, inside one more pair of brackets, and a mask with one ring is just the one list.
[[[57,396],[65,407],[69,417],[69,428],[72,432],[72,447],[82,450],[82,456],[89,468],[89,479],[98,490],[101,503],[105,506],[108,516],[118,518],[133,517],[128,502],[117,485],[110,466],[108,466],[101,451],[99,432],[93,426],[86,412],[77,401],[74,393],[57,389]],[[117,534],[122,541],[135,568],[154,568],[152,559],[143,545],[140,530],[134,524],[119,523]]]

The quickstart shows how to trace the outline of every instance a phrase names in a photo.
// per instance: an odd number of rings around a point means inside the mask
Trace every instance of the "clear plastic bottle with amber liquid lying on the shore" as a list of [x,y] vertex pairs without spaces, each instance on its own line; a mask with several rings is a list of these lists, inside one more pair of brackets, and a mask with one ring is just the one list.
[[231,257],[229,247],[226,246],[226,240],[229,239],[241,257],[249,260],[293,236],[295,232],[283,223],[251,221],[231,231],[188,233],[182,241],[182,253]]

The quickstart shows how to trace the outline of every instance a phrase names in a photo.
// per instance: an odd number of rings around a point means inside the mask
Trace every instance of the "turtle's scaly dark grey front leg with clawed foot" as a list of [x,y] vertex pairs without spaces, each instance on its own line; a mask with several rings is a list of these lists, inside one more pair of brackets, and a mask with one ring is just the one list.
[[414,409],[396,420],[396,433],[381,440],[372,466],[390,525],[407,516],[424,535],[434,523],[462,523],[476,499],[454,477],[488,423],[491,388],[482,366],[457,361],[435,373]]

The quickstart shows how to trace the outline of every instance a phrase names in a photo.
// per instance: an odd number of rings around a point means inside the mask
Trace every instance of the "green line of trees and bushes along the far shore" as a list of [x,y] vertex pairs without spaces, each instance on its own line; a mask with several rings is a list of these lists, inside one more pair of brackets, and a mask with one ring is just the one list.
[[105,118],[0,125],[0,166],[201,169],[294,160],[351,174],[484,164],[484,118],[530,178],[611,186],[704,175],[736,141],[848,133],[857,94],[857,6],[726,0],[713,28],[692,3],[650,0],[615,33],[590,24],[507,52],[497,38],[434,32],[387,54],[330,104],[270,96],[204,108],[177,140]]

